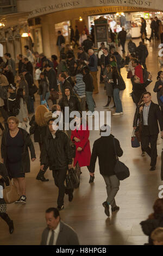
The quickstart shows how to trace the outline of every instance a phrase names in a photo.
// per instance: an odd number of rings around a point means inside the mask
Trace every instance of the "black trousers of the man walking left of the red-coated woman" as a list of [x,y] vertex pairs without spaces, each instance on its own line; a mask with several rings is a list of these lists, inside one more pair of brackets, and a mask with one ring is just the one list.
[[64,196],[65,194],[73,193],[73,190],[67,189],[65,187],[67,169],[62,170],[53,170],[53,178],[55,185],[59,188],[59,194],[57,199],[57,204],[59,206],[64,205]]

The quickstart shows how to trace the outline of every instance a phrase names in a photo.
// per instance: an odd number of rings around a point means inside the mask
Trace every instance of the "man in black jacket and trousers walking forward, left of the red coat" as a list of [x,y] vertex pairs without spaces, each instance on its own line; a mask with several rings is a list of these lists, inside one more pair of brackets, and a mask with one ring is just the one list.
[[72,157],[70,141],[64,132],[57,130],[55,120],[56,118],[48,121],[49,131],[41,152],[41,170],[48,165],[53,171],[55,185],[59,188],[58,210],[63,210],[65,193],[68,194],[70,202],[73,199],[73,190],[67,190],[64,185],[67,169],[72,167]]

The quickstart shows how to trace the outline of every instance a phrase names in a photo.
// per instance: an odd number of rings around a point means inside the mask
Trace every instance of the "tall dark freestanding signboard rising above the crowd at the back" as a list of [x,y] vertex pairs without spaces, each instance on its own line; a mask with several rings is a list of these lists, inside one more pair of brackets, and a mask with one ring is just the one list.
[[101,42],[105,45],[108,43],[109,38],[109,24],[108,20],[104,17],[99,17],[95,20],[95,45],[97,48],[101,47]]

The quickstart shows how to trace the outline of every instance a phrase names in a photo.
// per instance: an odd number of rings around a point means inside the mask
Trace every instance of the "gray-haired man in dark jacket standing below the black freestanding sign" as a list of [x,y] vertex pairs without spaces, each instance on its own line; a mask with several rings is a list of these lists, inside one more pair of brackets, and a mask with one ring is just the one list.
[[93,78],[93,86],[95,88],[93,90],[93,93],[96,94],[96,93],[98,93],[98,84],[97,84],[98,59],[92,49],[88,50],[88,54],[89,54],[89,62],[87,62],[87,65],[90,69],[90,74],[92,75],[92,78]]

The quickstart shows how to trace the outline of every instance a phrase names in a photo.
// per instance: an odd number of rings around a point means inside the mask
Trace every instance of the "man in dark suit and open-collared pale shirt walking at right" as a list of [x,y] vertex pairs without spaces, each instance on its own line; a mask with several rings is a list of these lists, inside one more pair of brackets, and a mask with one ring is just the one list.
[[[160,107],[151,100],[151,93],[145,92],[142,95],[142,100],[144,102],[143,106],[139,108],[139,112],[135,113],[134,123],[136,124],[139,119],[141,123],[141,146],[142,150],[146,151],[151,157],[151,169],[156,169],[157,160],[157,139],[159,134],[159,126],[163,136],[163,120]],[[134,127],[136,130],[136,127]],[[151,148],[149,147],[151,144]]]

